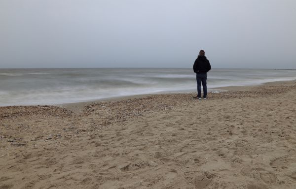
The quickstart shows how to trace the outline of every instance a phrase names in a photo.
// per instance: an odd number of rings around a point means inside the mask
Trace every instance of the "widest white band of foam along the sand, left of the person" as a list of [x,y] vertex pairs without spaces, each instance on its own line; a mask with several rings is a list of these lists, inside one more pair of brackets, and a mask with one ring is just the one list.
[[27,90],[16,92],[0,93],[0,106],[11,105],[54,105],[62,103],[83,102],[97,99],[121,97],[130,95],[145,95],[168,93],[186,90],[188,87],[130,87],[116,89],[93,89],[88,87],[58,87],[55,89]]

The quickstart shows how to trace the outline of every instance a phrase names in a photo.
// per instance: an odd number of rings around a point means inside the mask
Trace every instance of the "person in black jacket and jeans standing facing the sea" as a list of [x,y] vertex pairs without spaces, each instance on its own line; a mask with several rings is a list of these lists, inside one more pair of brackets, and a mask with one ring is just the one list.
[[211,64],[205,56],[205,51],[200,50],[197,59],[193,64],[193,71],[196,73],[197,96],[193,98],[201,99],[201,84],[203,88],[203,98],[207,99],[207,72],[211,70]]

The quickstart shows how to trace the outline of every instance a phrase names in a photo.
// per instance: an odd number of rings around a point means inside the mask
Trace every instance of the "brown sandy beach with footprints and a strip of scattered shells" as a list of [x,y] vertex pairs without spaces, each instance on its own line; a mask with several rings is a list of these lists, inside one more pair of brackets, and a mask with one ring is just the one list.
[[0,189],[296,189],[295,81],[192,96],[0,107]]

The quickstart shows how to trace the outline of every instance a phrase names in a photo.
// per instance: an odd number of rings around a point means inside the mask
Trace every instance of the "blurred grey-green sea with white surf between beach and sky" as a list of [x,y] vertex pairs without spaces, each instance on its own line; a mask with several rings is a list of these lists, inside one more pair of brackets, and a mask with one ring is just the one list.
[[[219,87],[296,80],[296,70],[218,69],[208,72],[209,91]],[[196,92],[192,68],[0,69],[0,106],[52,105],[129,95]]]

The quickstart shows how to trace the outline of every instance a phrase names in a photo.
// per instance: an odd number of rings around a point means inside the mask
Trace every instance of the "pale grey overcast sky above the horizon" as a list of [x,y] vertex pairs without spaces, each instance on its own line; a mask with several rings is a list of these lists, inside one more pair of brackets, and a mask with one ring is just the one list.
[[296,68],[296,0],[0,0],[0,68]]

